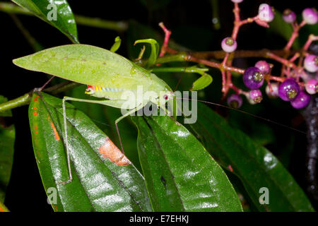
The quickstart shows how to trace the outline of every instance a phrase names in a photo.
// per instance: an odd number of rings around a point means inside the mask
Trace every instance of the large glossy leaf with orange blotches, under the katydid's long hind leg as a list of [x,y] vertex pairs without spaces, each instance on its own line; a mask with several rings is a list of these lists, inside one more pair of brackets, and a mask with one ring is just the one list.
[[[69,179],[64,147],[61,100],[34,94],[29,107],[37,166],[55,211],[151,211],[142,175],[83,112],[66,103],[73,181]],[[107,146],[108,145],[108,146]],[[56,189],[56,190],[55,190]]]

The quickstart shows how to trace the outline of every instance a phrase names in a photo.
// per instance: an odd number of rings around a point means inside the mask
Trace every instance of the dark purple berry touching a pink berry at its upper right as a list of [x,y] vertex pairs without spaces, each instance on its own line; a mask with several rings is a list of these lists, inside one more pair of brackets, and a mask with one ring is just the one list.
[[243,73],[243,82],[247,88],[257,90],[264,83],[264,74],[256,67],[251,66]]

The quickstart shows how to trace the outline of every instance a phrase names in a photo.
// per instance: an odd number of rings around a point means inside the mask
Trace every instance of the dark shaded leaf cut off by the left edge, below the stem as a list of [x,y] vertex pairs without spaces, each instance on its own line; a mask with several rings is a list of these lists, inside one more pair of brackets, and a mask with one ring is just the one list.
[[[0,103],[5,102],[6,98],[0,95]],[[12,116],[11,111],[0,115],[0,202],[4,202],[6,189],[11,177],[13,165],[14,141],[16,130],[14,125],[6,126],[3,116]]]

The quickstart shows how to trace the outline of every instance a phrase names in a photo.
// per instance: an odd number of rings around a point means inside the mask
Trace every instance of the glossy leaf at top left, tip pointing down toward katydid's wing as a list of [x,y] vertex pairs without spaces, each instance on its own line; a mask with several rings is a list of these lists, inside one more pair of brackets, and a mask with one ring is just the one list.
[[22,8],[28,9],[38,18],[44,20],[64,35],[73,43],[79,43],[76,22],[71,7],[66,0],[12,0]]

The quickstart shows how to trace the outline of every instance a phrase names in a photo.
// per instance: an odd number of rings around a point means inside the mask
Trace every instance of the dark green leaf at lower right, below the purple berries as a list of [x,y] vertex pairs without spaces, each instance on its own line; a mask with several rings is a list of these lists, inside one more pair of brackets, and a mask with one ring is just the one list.
[[[190,125],[216,160],[240,178],[261,211],[313,211],[295,179],[266,148],[233,129],[208,107],[198,105],[198,120]],[[259,189],[269,189],[269,204],[261,205]]]

